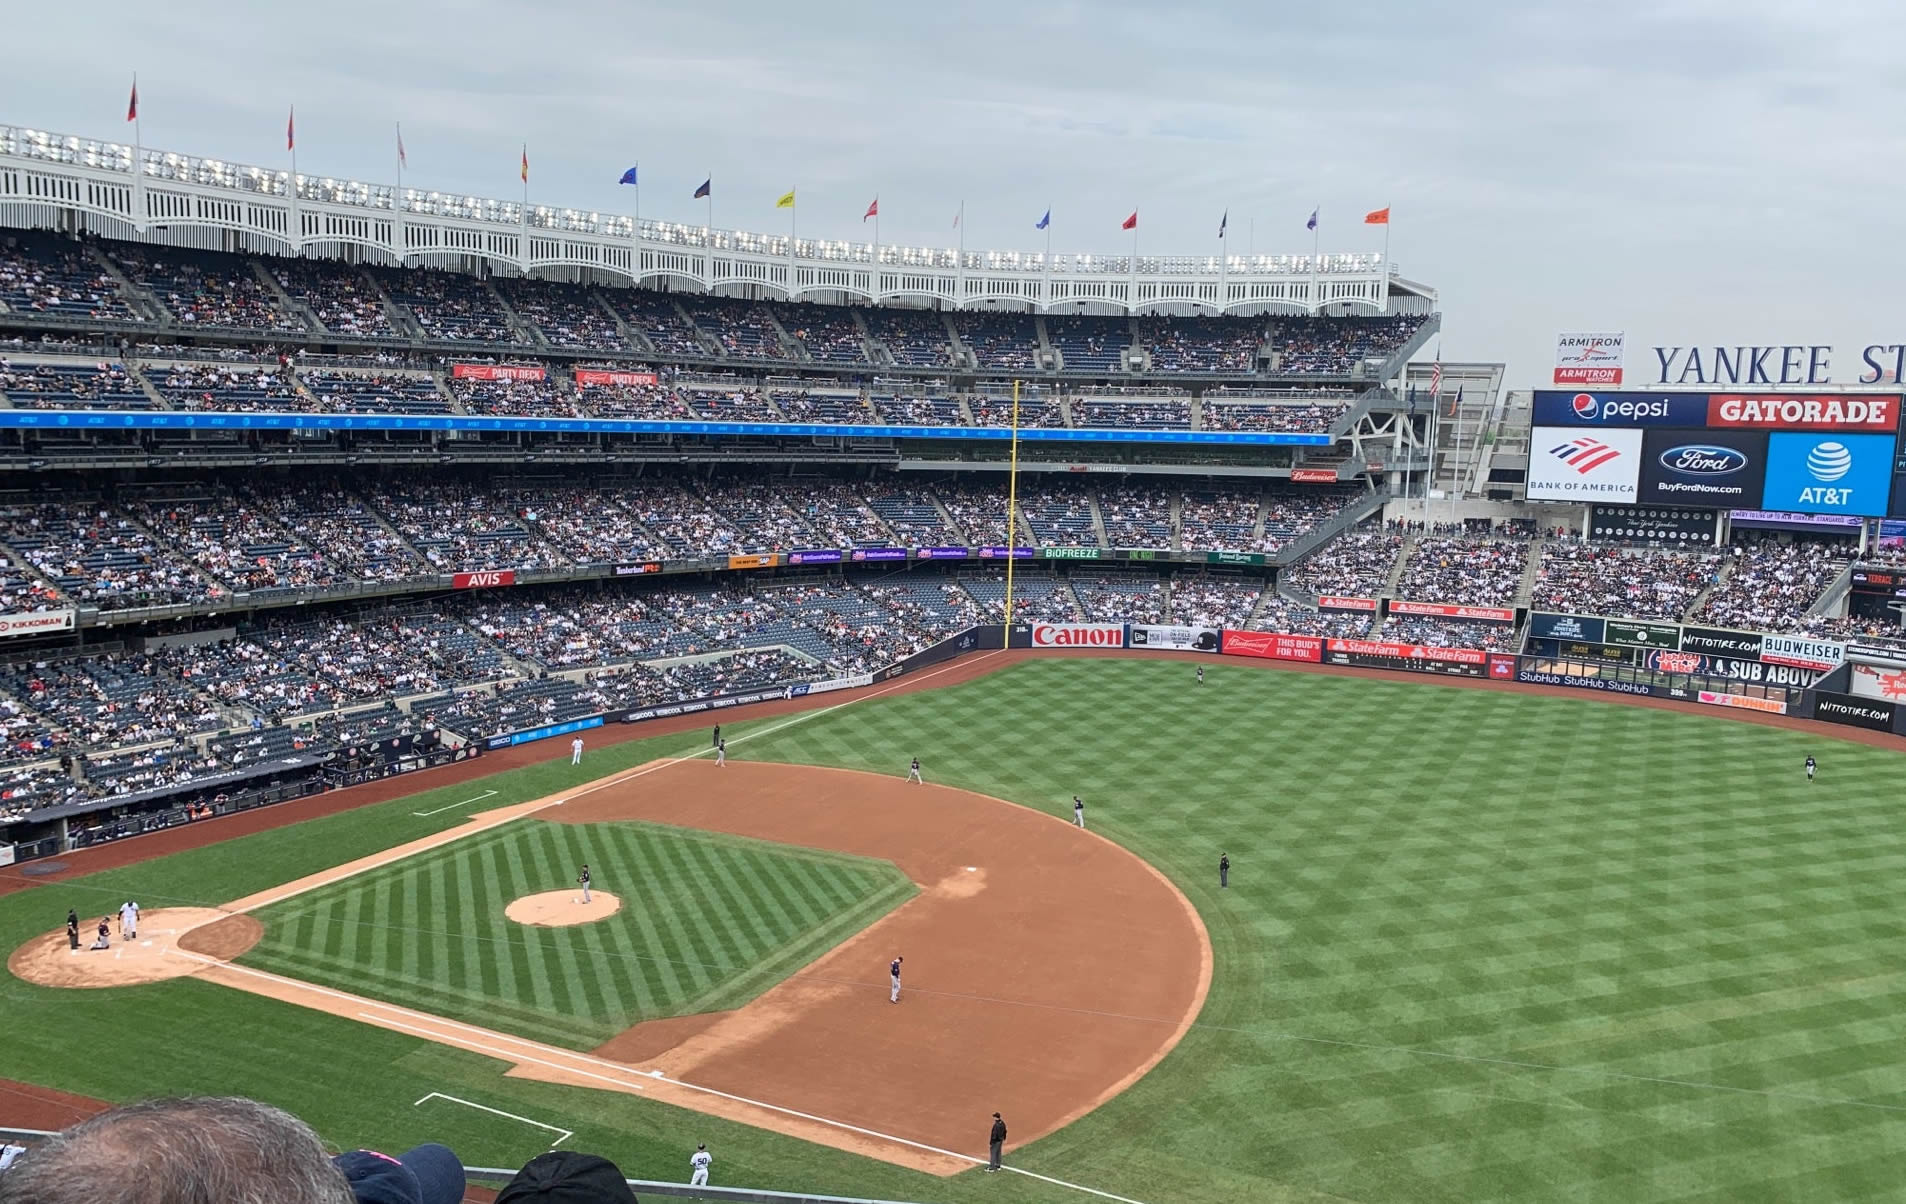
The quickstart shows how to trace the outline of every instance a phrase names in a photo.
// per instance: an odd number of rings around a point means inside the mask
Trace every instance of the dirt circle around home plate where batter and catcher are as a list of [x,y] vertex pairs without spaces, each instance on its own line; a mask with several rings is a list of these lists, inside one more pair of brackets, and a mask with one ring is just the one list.
[[111,949],[88,949],[97,924],[99,916],[80,918],[78,951],[67,947],[67,930],[57,928],[15,949],[6,968],[40,987],[133,987],[198,973],[208,958],[231,960],[265,935],[252,916],[215,907],[162,907],[139,916],[135,939],[122,941],[112,918]]

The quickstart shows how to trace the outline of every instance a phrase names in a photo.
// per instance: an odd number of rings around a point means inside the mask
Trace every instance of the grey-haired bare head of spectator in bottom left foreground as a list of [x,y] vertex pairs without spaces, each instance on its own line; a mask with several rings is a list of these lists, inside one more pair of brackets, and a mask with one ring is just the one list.
[[311,1126],[255,1099],[147,1099],[50,1137],[0,1204],[353,1204]]

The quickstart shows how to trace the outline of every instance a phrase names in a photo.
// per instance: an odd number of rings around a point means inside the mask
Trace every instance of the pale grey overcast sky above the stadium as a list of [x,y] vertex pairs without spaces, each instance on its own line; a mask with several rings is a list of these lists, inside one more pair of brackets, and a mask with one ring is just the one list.
[[[240,15],[242,13],[242,15]],[[1906,341],[1906,177],[1881,0],[1597,4],[34,4],[0,120],[412,187],[968,248],[1380,250],[1441,291],[1445,358],[1532,383],[1557,330]]]

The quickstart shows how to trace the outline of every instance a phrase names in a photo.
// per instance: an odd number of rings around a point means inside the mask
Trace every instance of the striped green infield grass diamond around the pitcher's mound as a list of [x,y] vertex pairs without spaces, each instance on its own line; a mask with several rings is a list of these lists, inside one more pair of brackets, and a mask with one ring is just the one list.
[[[606,920],[532,928],[522,895],[595,888]],[[242,960],[587,1050],[736,1008],[915,893],[890,863],[661,825],[524,819],[286,899]]]

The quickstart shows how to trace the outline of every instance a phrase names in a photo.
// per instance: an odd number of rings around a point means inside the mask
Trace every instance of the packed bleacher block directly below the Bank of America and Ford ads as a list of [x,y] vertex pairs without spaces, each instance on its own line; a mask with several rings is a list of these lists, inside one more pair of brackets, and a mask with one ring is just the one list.
[[1719,572],[1719,552],[1551,541],[1542,545],[1531,606],[1628,619],[1679,619]]

